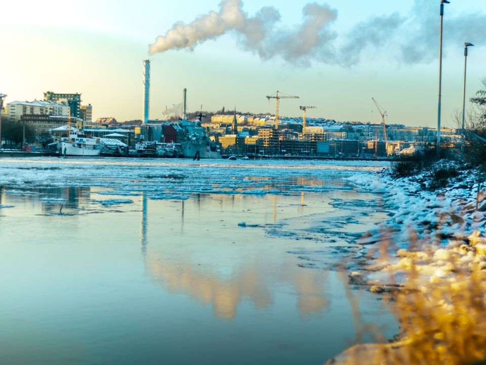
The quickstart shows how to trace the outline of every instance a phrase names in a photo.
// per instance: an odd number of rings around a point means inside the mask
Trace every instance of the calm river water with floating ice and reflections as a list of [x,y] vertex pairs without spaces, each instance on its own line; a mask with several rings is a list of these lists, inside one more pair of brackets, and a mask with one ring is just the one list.
[[386,217],[345,178],[383,166],[0,159],[0,363],[321,364],[391,338],[343,275]]

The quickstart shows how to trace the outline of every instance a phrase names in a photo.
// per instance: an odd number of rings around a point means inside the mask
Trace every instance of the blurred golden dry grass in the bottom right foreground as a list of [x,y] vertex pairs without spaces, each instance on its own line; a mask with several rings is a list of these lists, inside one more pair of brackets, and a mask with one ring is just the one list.
[[[423,242],[398,250],[398,260],[390,264],[389,247],[382,246],[378,261],[388,263],[383,272],[389,281],[370,287],[387,292],[400,324],[395,341],[356,345],[329,364],[486,364],[484,239],[471,237],[470,244],[451,242],[447,248],[418,247]],[[404,281],[394,283],[403,275]]]

